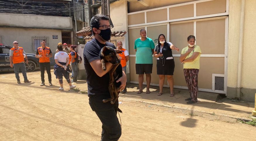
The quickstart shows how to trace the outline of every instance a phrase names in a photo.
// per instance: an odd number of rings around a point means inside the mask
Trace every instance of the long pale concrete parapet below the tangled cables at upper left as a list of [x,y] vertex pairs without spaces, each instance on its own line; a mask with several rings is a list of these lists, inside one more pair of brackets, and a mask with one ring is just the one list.
[[72,29],[71,17],[0,13],[0,26]]

